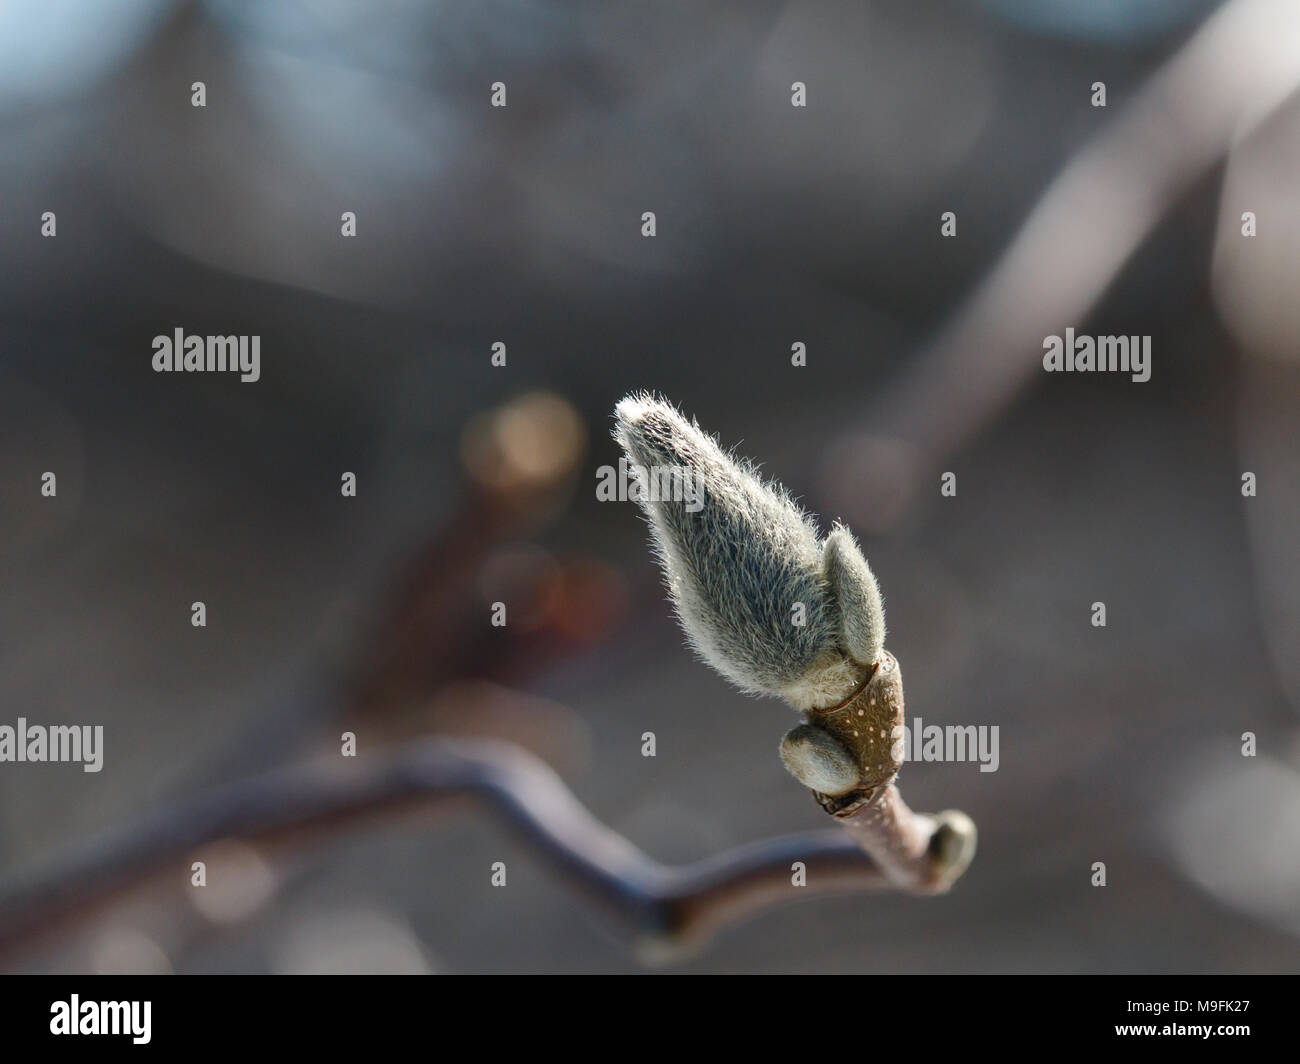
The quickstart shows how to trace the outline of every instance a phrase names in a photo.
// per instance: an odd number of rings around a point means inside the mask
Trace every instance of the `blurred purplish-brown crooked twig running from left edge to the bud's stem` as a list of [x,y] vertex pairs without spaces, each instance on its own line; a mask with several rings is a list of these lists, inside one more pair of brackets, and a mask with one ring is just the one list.
[[[684,868],[651,860],[595,819],[545,764],[495,740],[424,740],[359,761],[280,769],[104,835],[0,896],[0,965],[153,877],[188,882],[225,839],[281,852],[448,799],[480,799],[658,959],[781,901],[890,886],[844,831],[766,839]],[[806,886],[794,886],[803,862]],[[486,873],[484,883],[488,883]],[[203,890],[203,887],[190,887]]]

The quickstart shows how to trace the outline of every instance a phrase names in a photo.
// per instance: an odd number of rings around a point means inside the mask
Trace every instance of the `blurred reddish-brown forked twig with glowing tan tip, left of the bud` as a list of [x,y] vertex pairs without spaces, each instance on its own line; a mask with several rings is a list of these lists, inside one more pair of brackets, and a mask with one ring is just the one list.
[[[577,410],[554,393],[526,392],[474,416],[448,515],[396,566],[352,641],[326,648],[321,678],[290,691],[213,758],[212,782],[296,761],[304,736],[335,741],[344,728],[370,747],[508,735],[558,767],[581,764],[573,714],[514,688],[589,652],[623,620],[611,566],[528,542],[563,512],[585,449]],[[510,627],[491,627],[489,592],[508,602]],[[333,723],[322,731],[326,713]]]

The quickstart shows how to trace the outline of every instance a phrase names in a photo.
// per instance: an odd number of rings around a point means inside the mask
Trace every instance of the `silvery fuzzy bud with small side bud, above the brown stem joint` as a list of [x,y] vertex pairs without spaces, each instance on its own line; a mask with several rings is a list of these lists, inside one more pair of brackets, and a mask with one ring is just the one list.
[[[885,633],[880,591],[849,529],[836,525],[820,540],[780,484],[662,398],[628,395],[614,415],[614,438],[644,485],[640,502],[696,652],[741,691],[796,709],[848,696]],[[702,489],[696,512],[645,489],[666,468]]]

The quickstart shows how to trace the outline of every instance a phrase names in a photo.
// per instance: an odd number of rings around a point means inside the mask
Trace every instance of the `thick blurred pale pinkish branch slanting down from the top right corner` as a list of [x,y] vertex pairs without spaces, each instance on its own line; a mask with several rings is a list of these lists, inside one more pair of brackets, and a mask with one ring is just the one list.
[[1295,0],[1230,0],[1052,182],[988,277],[827,459],[836,511],[889,529],[933,463],[1079,326],[1191,183],[1300,86]]

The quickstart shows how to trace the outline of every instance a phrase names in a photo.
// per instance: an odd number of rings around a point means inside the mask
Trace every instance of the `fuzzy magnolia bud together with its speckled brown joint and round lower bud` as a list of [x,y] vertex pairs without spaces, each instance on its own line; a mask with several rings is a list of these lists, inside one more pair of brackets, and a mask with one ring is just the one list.
[[883,650],[880,591],[849,529],[823,541],[784,488],[663,399],[629,395],[615,419],[690,644],[742,691],[809,713],[781,760],[814,791],[892,778],[902,688]]

